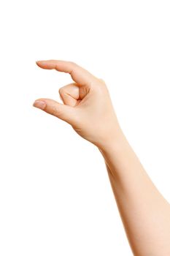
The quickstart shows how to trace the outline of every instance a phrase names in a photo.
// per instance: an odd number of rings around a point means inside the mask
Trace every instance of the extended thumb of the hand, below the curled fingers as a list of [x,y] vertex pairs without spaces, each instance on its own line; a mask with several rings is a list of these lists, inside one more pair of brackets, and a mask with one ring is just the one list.
[[71,125],[74,125],[77,120],[77,111],[74,107],[61,104],[53,99],[36,99],[33,106]]

